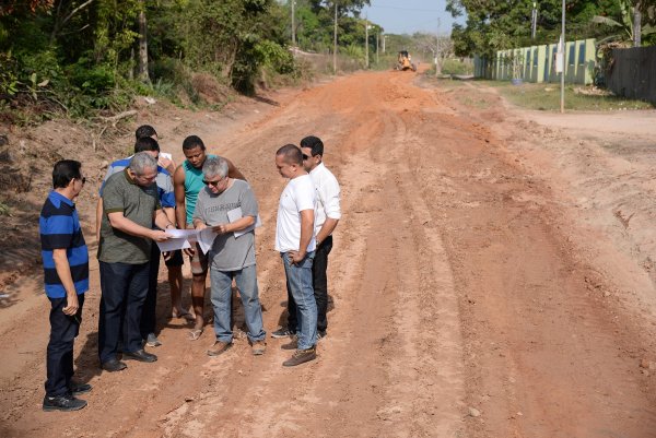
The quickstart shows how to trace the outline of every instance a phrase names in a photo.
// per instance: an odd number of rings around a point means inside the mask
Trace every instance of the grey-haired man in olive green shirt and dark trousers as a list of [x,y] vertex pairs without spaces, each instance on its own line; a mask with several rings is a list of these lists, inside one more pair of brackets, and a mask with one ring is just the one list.
[[157,356],[143,351],[139,327],[148,293],[152,240],[168,238],[166,232],[152,229],[153,220],[162,229],[175,228],[160,205],[156,176],[157,162],[141,152],[134,154],[124,171],[110,176],[103,189],[98,356],[106,371],[126,368],[117,357],[121,321],[124,357],[157,360]]

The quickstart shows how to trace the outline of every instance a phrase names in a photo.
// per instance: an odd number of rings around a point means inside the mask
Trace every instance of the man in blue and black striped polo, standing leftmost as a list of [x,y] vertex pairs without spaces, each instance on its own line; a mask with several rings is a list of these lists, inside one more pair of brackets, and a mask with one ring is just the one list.
[[89,251],[73,200],[84,187],[80,162],[63,159],[52,169],[54,190],[39,217],[44,283],[51,304],[44,411],[78,411],[75,395],[91,391],[73,377],[73,342],[80,332],[84,293],[89,289]]

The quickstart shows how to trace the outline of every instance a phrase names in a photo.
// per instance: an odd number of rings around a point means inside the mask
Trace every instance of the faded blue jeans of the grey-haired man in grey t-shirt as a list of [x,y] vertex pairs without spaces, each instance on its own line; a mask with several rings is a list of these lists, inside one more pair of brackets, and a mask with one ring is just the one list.
[[250,342],[263,341],[267,336],[262,325],[262,307],[259,303],[257,291],[257,274],[255,264],[239,271],[219,271],[210,269],[210,282],[212,285],[212,307],[214,308],[214,333],[221,342],[232,342],[231,328],[231,297],[232,281],[239,288],[239,296],[244,305],[246,325],[248,327],[248,339]]

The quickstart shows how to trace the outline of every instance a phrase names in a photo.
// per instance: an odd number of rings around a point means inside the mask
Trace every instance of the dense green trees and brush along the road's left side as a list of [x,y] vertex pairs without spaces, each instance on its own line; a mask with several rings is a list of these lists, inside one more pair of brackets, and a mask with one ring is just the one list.
[[[339,2],[340,68],[361,68],[349,50],[366,3]],[[296,4],[296,47],[330,52],[333,3]],[[3,1],[0,122],[108,116],[139,95],[221,107],[235,92],[308,80],[326,62],[290,50],[288,7],[277,0]]]

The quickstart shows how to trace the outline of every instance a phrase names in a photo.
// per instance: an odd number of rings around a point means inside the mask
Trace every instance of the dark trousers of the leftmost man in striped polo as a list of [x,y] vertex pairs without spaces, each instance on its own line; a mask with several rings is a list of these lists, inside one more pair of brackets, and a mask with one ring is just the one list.
[[46,395],[59,396],[69,392],[73,377],[73,343],[80,333],[84,294],[78,295],[78,313],[65,315],[66,298],[48,298],[50,308],[50,341],[46,354]]

